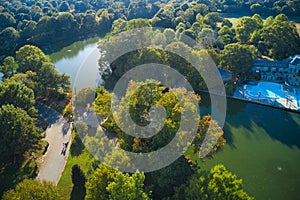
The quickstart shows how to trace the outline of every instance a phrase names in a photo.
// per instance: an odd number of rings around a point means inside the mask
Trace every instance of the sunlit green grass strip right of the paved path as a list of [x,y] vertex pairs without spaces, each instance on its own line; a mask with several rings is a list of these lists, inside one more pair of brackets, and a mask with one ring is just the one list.
[[62,191],[62,199],[84,198],[85,191],[73,190],[72,167],[77,164],[87,177],[93,170],[93,161],[92,155],[84,148],[80,138],[73,133],[68,161],[58,183],[58,188]]

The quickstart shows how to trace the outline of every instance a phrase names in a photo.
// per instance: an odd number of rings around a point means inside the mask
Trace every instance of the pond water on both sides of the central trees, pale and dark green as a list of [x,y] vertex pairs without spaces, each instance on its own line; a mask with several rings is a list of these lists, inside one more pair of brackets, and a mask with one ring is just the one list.
[[[76,82],[78,70],[91,68],[81,80],[97,82],[100,54],[97,41],[76,42],[50,55],[60,72]],[[68,51],[71,50],[71,51]],[[84,87],[79,83],[77,87]],[[210,100],[201,94],[201,113],[209,113]],[[296,199],[300,196],[299,114],[239,100],[227,100],[224,126],[226,146],[214,159],[199,163],[202,169],[222,163],[243,179],[244,189],[256,199]],[[193,156],[197,159],[197,155]]]

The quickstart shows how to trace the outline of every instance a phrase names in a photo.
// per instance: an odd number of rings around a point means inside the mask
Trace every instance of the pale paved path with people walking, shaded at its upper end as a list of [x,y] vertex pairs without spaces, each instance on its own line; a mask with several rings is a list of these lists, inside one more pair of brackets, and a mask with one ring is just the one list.
[[[43,105],[37,105],[41,116],[47,121],[49,127],[46,129],[45,140],[49,147],[44,155],[44,162],[40,167],[38,180],[46,180],[58,184],[61,174],[65,168],[67,157],[71,146],[71,129],[69,124],[55,110]],[[65,154],[62,153],[64,143],[68,142]]]

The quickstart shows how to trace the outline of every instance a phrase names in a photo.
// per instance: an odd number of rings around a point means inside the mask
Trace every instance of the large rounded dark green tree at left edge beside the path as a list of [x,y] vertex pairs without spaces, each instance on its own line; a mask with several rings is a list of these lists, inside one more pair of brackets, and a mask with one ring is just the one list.
[[0,108],[0,127],[1,162],[20,158],[42,138],[35,120],[13,105]]

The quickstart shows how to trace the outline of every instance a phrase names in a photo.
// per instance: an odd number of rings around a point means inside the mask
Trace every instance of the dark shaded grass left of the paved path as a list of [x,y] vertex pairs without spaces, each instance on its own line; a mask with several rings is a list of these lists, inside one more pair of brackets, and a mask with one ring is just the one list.
[[[37,158],[36,163],[38,167],[42,162],[45,143],[46,141],[42,140],[33,150],[29,151],[30,153],[34,152],[34,156]],[[36,164],[30,153],[24,155],[24,161],[21,163],[16,162],[7,166],[0,166],[0,197],[4,191],[14,188],[16,184],[24,179],[36,177]]]

